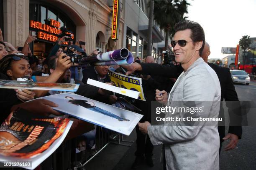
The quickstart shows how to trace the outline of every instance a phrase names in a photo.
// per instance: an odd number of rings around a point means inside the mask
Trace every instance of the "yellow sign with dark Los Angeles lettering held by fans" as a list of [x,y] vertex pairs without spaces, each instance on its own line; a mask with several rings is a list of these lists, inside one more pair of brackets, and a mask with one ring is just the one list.
[[122,75],[120,73],[113,72],[112,70],[108,70],[108,75],[111,79],[111,82],[113,82],[116,87],[141,92],[138,99],[146,101],[142,89],[141,78]]

